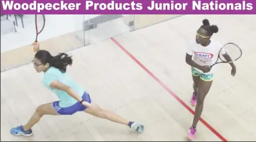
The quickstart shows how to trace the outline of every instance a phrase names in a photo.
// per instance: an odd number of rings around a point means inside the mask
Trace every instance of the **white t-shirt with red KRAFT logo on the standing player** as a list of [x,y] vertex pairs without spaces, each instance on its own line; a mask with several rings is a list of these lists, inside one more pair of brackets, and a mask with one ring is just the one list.
[[[201,44],[197,44],[195,41],[189,45],[187,53],[192,55],[192,60],[195,63],[199,65],[213,65],[217,61],[219,50],[222,48],[222,45],[215,40],[210,40],[211,42],[207,47],[203,47]],[[225,54],[225,50],[222,49],[220,54]],[[203,73],[197,68],[195,69],[203,74],[213,74],[215,72],[216,66],[217,65],[214,65],[208,73]]]

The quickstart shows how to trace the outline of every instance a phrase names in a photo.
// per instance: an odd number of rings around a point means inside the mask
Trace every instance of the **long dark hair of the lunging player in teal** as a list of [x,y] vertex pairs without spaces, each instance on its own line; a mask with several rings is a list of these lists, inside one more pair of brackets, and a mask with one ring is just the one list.
[[68,65],[72,65],[72,57],[67,53],[59,53],[56,56],[52,56],[47,50],[39,50],[36,55],[37,59],[41,61],[42,64],[49,64],[49,67],[55,67],[65,73]]

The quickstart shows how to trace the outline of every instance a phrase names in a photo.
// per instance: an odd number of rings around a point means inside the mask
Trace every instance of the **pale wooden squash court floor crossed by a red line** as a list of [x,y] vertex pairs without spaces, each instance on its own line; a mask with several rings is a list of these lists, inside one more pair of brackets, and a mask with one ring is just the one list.
[[73,65],[67,72],[102,108],[144,124],[143,134],[76,113],[43,116],[33,136],[12,136],[11,128],[58,98],[44,87],[43,74],[32,63],[1,72],[1,141],[187,141],[194,107],[185,49],[204,18],[219,27],[212,38],[237,43],[243,55],[235,62],[235,77],[229,64],[218,65],[195,141],[255,141],[255,15],[187,15],[68,52]]

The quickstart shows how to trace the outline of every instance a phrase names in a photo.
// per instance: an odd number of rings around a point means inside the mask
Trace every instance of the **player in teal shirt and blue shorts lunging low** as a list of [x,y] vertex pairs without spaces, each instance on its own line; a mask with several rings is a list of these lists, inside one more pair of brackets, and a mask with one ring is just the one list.
[[72,115],[78,111],[127,125],[132,130],[142,133],[143,125],[128,121],[92,102],[86,90],[66,73],[67,65],[71,65],[72,61],[72,58],[66,53],[59,53],[52,57],[48,51],[38,50],[33,60],[34,68],[38,73],[44,72],[44,85],[58,96],[59,101],[39,106],[27,124],[12,128],[11,133],[31,136],[33,134],[32,127],[43,115]]

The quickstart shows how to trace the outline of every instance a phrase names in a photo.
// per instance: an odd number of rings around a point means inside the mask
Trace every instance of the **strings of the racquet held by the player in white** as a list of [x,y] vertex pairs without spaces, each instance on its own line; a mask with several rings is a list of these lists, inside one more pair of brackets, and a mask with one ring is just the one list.
[[[232,61],[237,60],[242,55],[242,52],[239,47],[237,47],[234,44],[227,44],[225,45],[222,50],[225,50],[225,52],[230,56]],[[220,55],[219,57],[222,61],[228,62],[223,55]]]

